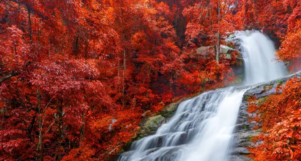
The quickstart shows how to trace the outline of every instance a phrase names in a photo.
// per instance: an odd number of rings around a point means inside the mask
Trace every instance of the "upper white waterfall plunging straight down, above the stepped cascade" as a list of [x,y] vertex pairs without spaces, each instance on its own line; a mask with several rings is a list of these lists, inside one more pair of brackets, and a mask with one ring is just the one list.
[[270,81],[286,75],[284,63],[277,62],[274,43],[259,31],[241,31],[245,84]]

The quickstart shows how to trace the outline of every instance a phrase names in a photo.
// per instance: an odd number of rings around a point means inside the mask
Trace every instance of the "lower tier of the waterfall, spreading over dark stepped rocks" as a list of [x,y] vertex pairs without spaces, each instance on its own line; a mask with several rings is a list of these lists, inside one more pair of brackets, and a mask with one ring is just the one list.
[[223,160],[245,90],[221,88],[181,102],[155,135],[135,141],[119,160]]

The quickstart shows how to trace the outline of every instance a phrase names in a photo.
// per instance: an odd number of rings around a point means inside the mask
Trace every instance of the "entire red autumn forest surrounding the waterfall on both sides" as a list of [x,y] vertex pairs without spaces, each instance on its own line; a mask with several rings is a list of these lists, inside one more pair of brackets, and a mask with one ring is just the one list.
[[[220,46],[252,29],[301,69],[301,0],[0,0],[0,160],[114,159],[166,105],[241,83]],[[277,90],[250,103],[250,157],[301,160],[300,77]]]

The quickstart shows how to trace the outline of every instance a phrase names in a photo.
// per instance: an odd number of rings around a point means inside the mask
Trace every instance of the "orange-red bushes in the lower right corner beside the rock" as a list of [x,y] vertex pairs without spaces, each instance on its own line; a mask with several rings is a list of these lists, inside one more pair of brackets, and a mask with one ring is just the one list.
[[263,144],[250,148],[255,160],[301,159],[300,85],[300,78],[291,79],[282,93],[271,95],[261,106],[253,107],[253,111],[261,114],[257,121],[261,121],[262,129],[268,132],[255,139],[263,140]]

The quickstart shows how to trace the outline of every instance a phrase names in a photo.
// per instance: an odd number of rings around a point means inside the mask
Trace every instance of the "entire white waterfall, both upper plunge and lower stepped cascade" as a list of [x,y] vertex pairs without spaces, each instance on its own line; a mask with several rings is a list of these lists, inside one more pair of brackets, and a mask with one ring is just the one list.
[[[283,63],[272,61],[275,56],[271,40],[258,31],[238,34],[244,51],[246,84],[285,75]],[[246,90],[247,87],[220,88],[181,102],[174,116],[156,134],[133,142],[130,151],[122,153],[118,160],[227,160]]]

